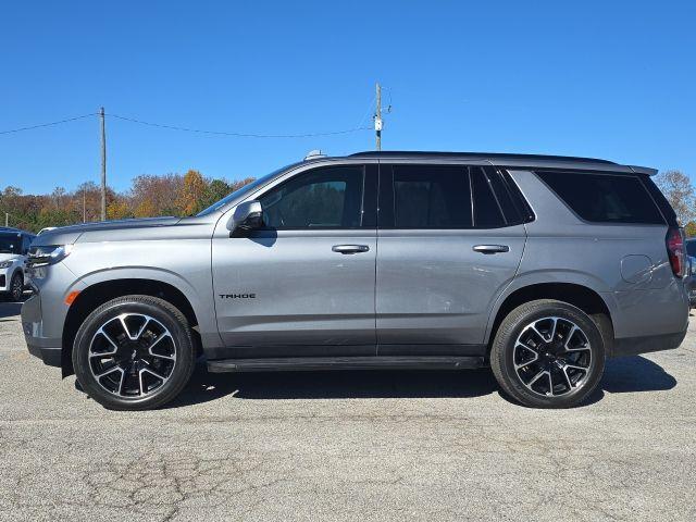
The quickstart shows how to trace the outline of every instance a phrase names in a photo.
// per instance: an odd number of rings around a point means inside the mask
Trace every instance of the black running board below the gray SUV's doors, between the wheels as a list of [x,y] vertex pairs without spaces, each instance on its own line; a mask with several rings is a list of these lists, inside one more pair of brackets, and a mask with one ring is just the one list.
[[465,370],[484,365],[483,357],[283,357],[208,361],[208,371]]

